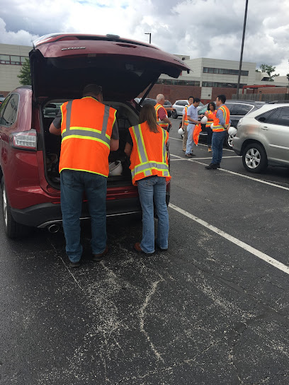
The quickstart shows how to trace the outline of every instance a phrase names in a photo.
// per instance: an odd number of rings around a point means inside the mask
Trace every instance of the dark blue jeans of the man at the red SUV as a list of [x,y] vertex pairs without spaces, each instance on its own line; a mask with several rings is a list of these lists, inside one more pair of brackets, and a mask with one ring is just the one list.
[[81,258],[80,216],[84,192],[91,215],[91,250],[106,249],[106,183],[107,178],[86,171],[63,170],[60,173],[62,224],[69,260]]

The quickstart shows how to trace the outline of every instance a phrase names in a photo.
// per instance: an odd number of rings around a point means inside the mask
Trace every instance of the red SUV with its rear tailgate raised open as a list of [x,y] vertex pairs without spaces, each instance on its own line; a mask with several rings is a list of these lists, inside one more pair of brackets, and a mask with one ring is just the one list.
[[[146,88],[149,93],[160,74],[179,77],[181,71],[189,70],[186,64],[152,45],[115,35],[54,34],[34,42],[30,67],[32,87],[16,88],[0,106],[0,178],[6,235],[15,238],[26,234],[28,226],[59,229],[61,137],[48,130],[60,105],[81,98],[81,91],[90,83],[101,85],[103,103],[118,111],[120,148],[111,152],[109,161],[121,161],[123,172],[108,177],[107,215],[141,212],[123,151],[128,128],[138,124],[140,106],[134,106],[133,99]],[[84,197],[81,219],[87,218]]]

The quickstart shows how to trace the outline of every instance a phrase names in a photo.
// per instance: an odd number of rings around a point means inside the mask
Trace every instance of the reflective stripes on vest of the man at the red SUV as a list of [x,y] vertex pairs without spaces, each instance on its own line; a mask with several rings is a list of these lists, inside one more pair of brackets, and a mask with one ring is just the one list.
[[72,116],[72,102],[73,100],[69,100],[67,103],[67,120],[66,127],[62,131],[62,141],[69,138],[81,138],[81,139],[91,139],[101,142],[108,146],[108,149],[111,148],[111,137],[106,134],[106,127],[108,125],[108,117],[110,108],[108,105],[104,108],[104,116],[103,116],[103,126],[100,130],[95,130],[94,128],[89,127],[71,127],[70,119]]

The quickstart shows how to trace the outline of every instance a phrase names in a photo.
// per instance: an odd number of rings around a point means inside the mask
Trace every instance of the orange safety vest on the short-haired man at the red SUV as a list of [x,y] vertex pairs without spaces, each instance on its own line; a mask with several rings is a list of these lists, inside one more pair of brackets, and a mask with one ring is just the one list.
[[108,177],[116,110],[86,96],[65,102],[61,112],[60,172],[78,170]]

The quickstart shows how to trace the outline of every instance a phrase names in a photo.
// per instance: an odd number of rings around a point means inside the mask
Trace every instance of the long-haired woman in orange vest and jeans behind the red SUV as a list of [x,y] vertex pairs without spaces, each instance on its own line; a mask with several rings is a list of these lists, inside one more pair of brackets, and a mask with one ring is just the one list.
[[169,238],[169,214],[166,207],[166,183],[169,182],[166,145],[169,132],[156,122],[154,107],[144,105],[140,124],[130,127],[125,154],[130,156],[132,183],[137,185],[142,205],[142,241],[135,250],[154,253],[154,205],[158,217],[156,246],[166,251]]

